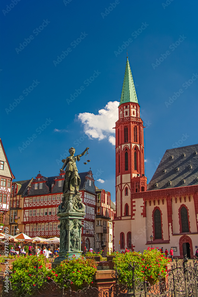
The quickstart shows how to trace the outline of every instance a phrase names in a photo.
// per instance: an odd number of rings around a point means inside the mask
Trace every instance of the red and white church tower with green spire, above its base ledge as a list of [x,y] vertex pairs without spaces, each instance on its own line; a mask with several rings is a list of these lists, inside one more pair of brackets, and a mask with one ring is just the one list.
[[131,193],[147,189],[144,127],[128,57],[118,109],[119,117],[115,124],[116,217],[122,220],[133,217]]

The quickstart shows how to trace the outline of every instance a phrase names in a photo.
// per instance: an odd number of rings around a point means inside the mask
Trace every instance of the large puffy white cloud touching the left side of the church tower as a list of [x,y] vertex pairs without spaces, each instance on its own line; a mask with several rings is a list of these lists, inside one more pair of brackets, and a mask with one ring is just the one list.
[[84,132],[89,138],[102,140],[109,138],[109,142],[115,145],[115,122],[118,120],[118,101],[110,101],[98,114],[80,113],[78,119],[84,125]]

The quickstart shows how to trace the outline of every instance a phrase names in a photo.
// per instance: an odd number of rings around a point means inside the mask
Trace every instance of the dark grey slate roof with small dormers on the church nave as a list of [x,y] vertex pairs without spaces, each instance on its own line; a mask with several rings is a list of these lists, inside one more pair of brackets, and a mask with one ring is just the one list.
[[[183,154],[185,155],[183,157]],[[171,159],[172,156],[172,159]],[[192,168],[189,169],[189,166]],[[176,170],[178,168],[178,171]],[[163,172],[165,170],[165,172]],[[197,178],[197,181],[196,181]],[[185,182],[182,183],[182,180]],[[171,183],[170,185],[168,183]],[[155,187],[157,184],[157,187]],[[148,191],[198,184],[198,144],[167,149],[148,184]]]

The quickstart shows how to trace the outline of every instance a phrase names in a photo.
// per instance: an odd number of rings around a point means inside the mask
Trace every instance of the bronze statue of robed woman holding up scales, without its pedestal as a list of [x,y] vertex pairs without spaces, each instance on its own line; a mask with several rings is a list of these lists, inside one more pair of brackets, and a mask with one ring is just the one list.
[[76,192],[79,193],[80,187],[80,176],[78,175],[78,170],[76,166],[76,161],[80,161],[80,157],[82,157],[89,148],[86,148],[82,154],[74,156],[75,149],[71,147],[69,149],[70,156],[63,159],[62,162],[63,167],[60,169],[60,172],[65,168],[65,180],[63,184],[63,194],[67,192]]

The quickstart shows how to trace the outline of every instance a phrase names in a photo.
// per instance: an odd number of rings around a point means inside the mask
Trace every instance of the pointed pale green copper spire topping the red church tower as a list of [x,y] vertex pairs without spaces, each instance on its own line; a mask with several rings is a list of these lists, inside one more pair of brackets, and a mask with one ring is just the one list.
[[126,69],[125,69],[120,105],[126,102],[138,103],[128,57],[126,61]]

